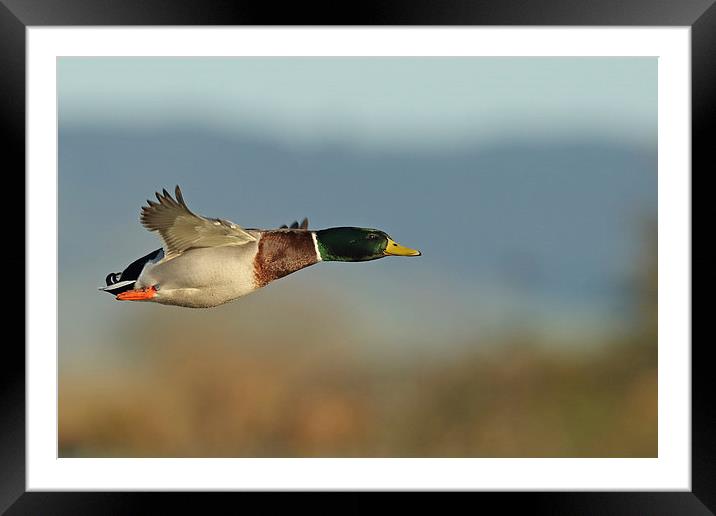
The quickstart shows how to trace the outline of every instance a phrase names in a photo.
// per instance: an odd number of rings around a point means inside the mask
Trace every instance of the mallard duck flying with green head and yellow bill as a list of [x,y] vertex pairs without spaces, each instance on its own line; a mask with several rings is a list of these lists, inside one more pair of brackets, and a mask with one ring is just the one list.
[[308,219],[277,229],[244,229],[196,215],[179,186],[147,201],[140,222],[163,246],[110,273],[106,287],[120,301],[208,308],[233,301],[318,262],[365,262],[386,256],[420,256],[385,232],[358,227],[311,231]]

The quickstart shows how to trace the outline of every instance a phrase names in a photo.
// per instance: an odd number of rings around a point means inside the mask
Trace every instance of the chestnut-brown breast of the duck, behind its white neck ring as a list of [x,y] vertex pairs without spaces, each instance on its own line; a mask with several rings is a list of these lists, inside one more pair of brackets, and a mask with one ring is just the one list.
[[254,258],[254,276],[257,287],[283,278],[287,274],[317,263],[316,248],[310,231],[279,229],[265,231],[259,239],[259,250]]

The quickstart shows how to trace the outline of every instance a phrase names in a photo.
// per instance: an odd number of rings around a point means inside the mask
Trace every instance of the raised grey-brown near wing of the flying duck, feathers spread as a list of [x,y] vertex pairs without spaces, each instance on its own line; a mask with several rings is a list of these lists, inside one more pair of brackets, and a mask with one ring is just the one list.
[[244,245],[256,238],[241,227],[223,219],[208,219],[187,208],[181,190],[176,187],[176,199],[167,193],[156,194],[157,202],[147,201],[139,217],[149,231],[157,231],[164,241],[165,259],[169,260],[192,247],[221,247]]

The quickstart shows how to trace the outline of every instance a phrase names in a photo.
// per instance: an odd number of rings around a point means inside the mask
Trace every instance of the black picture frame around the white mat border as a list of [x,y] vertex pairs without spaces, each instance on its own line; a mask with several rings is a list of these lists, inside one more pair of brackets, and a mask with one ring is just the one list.
[[[329,7],[286,2],[279,9],[267,2],[240,0],[0,0],[0,128],[5,162],[11,164],[6,165],[6,183],[11,177],[25,177],[25,30],[28,26],[63,25],[689,26],[692,38],[692,169],[701,170],[702,175],[713,172],[713,162],[709,161],[713,137],[709,129],[716,115],[714,0],[364,1],[356,4],[355,8],[348,9],[344,5],[342,9],[332,10],[337,5]],[[693,177],[692,173],[692,184]],[[19,194],[21,189],[25,192],[24,181],[15,188],[6,187],[5,201],[24,204],[25,196]],[[24,205],[12,211],[6,208],[6,211],[24,213]],[[5,271],[24,270],[25,258],[24,250],[22,253],[16,250],[6,254],[9,263]],[[6,274],[6,282],[14,284],[18,276],[17,273]],[[16,297],[12,303],[22,306],[24,310],[24,302],[20,303]],[[713,434],[716,404],[710,400],[711,390],[708,388],[710,362],[705,358],[708,345],[705,342],[692,344],[690,492],[505,492],[475,495],[491,498],[501,505],[501,510],[527,507],[530,513],[713,514],[716,512],[716,439]],[[192,512],[211,513],[212,507],[232,503],[229,498],[239,495],[26,492],[25,352],[19,339],[11,338],[5,339],[3,351],[5,367],[0,375],[0,511],[7,510],[9,515],[136,514],[145,512],[150,501],[160,501],[165,508],[162,512],[170,512],[173,505]],[[244,497],[247,498],[246,495]],[[300,497],[300,500],[306,498]],[[276,512],[274,503],[267,504],[266,497],[261,497],[261,512]],[[310,503],[314,510],[317,508],[313,500],[306,503]],[[425,503],[423,498],[420,504],[425,507]],[[436,509],[446,508],[444,502],[438,503],[440,505]],[[350,498],[340,505],[327,502],[325,506],[318,506],[322,512],[330,507],[339,513],[373,512],[383,507],[383,500],[372,493],[351,493]]]

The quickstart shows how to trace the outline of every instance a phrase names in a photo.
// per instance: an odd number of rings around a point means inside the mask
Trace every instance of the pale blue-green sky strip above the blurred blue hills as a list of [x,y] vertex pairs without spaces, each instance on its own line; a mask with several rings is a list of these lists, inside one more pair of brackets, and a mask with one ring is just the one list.
[[191,123],[395,149],[527,137],[653,145],[650,58],[65,58],[60,120]]

